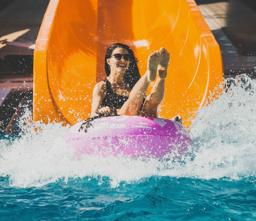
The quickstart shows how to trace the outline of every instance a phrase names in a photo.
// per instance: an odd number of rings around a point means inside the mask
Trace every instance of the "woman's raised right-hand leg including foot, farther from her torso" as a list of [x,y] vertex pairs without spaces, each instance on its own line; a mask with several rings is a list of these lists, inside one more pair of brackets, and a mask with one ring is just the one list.
[[161,47],[159,53],[161,61],[157,69],[158,77],[156,79],[153,89],[151,90],[150,95],[145,100],[142,110],[143,116],[157,117],[158,105],[164,99],[165,78],[167,76],[170,54],[163,47]]

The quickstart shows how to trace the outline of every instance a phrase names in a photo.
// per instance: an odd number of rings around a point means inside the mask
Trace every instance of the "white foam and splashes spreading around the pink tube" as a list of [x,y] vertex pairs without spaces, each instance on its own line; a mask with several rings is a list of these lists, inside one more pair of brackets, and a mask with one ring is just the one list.
[[106,176],[116,187],[121,181],[140,182],[154,175],[236,180],[255,176],[256,81],[247,80],[237,81],[227,92],[223,89],[219,99],[197,112],[189,128],[193,139],[189,153],[175,159],[76,159],[66,147],[69,126],[28,123],[27,112],[20,122],[22,135],[0,140],[0,176],[8,176],[11,186],[23,188],[59,179],[68,182],[71,177]]

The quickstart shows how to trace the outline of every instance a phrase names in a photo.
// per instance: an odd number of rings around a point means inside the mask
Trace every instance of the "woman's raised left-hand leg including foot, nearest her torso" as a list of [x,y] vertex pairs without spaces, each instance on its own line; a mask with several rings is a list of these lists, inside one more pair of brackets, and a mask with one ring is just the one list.
[[148,70],[146,71],[146,74],[134,85],[130,92],[129,99],[124,103],[117,114],[138,115],[140,113],[141,103],[146,95],[149,83],[156,78],[160,60],[159,51],[155,51],[149,55]]

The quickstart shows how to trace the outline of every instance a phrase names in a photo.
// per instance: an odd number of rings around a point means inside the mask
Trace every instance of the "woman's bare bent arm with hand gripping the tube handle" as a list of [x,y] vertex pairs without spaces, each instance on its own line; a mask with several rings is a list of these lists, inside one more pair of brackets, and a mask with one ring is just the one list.
[[102,101],[106,96],[107,86],[104,81],[98,82],[92,92],[92,111],[91,117],[101,114],[108,114],[110,112],[109,107],[101,107]]

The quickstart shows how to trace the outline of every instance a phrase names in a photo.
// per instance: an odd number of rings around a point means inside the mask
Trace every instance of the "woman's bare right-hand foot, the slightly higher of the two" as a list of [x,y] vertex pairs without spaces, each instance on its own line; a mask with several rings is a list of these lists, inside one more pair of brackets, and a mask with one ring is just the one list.
[[170,62],[170,53],[164,47],[160,48],[159,53],[161,60],[157,68],[157,73],[160,79],[165,79]]

